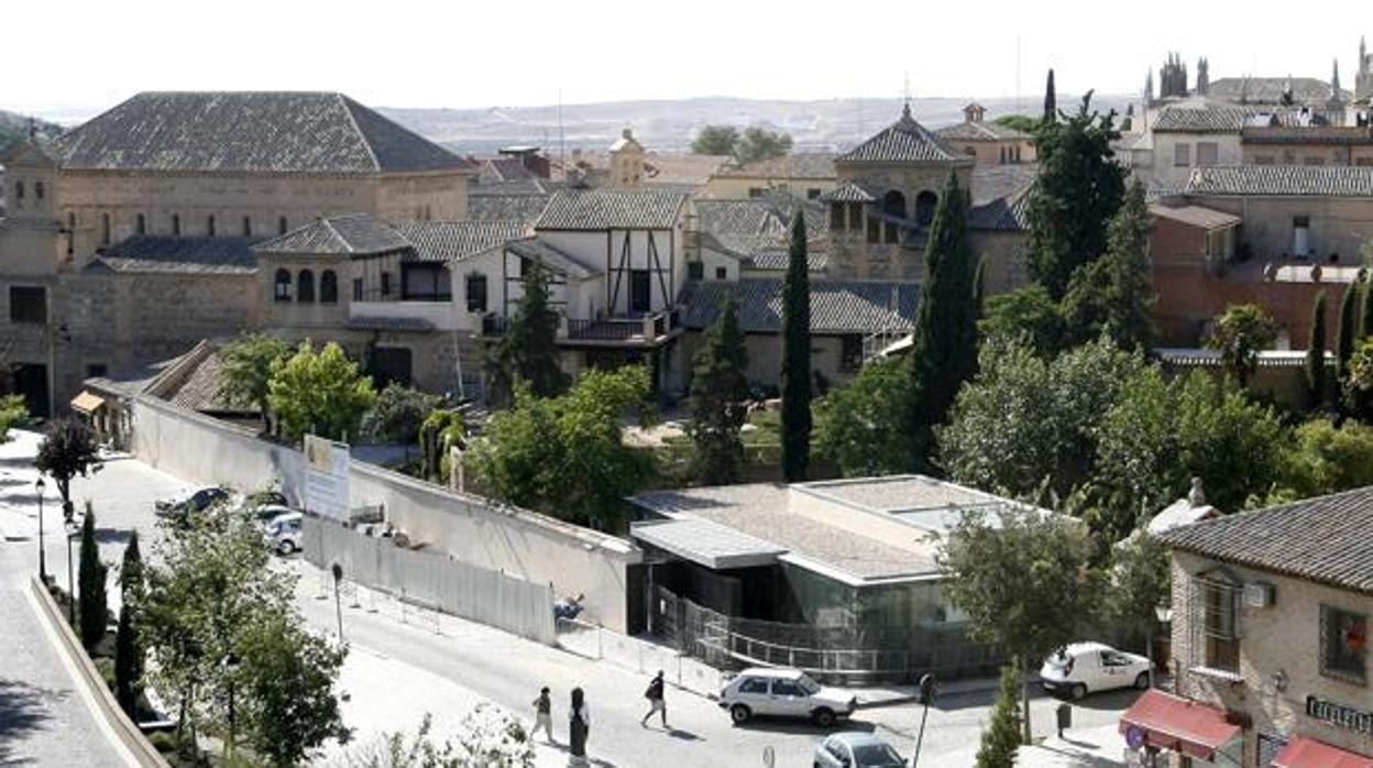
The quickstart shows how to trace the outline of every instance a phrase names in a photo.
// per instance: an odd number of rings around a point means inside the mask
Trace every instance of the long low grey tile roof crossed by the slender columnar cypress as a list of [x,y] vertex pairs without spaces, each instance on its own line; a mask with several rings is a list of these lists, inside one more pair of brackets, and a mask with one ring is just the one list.
[[[781,279],[744,278],[739,282],[688,282],[682,289],[682,324],[706,328],[715,321],[726,294],[739,306],[746,332],[781,331]],[[810,280],[810,330],[816,334],[910,331],[914,327],[919,283]]]

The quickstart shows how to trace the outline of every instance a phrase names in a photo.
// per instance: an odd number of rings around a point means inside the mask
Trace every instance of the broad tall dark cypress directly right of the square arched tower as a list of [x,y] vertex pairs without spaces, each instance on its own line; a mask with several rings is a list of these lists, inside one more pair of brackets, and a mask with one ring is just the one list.
[[968,249],[967,205],[968,195],[958,185],[958,177],[950,173],[930,225],[924,283],[909,356],[908,456],[917,471],[927,474],[934,471],[935,426],[947,418],[978,354],[978,306]]

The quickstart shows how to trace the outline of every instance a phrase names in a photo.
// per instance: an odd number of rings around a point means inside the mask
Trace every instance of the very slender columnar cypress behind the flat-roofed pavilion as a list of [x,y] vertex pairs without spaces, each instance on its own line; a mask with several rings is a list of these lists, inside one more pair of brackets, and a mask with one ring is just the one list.
[[791,251],[781,287],[781,474],[806,479],[810,466],[810,273],[806,217],[791,225]]

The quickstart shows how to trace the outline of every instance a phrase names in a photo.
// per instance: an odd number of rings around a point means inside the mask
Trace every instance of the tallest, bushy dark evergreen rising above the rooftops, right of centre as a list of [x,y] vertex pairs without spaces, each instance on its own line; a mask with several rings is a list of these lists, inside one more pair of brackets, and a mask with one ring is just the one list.
[[1030,272],[1060,301],[1072,273],[1107,250],[1111,217],[1124,196],[1124,168],[1111,143],[1115,111],[1090,111],[1092,93],[1063,122],[1035,136],[1039,174],[1030,194]]

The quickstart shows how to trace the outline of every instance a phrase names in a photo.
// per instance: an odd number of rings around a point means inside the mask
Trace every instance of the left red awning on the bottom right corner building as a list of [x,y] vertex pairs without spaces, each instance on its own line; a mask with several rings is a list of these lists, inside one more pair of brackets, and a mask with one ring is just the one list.
[[1218,749],[1240,735],[1240,727],[1227,723],[1219,709],[1151,688],[1120,716],[1120,732],[1130,746],[1212,761]]

